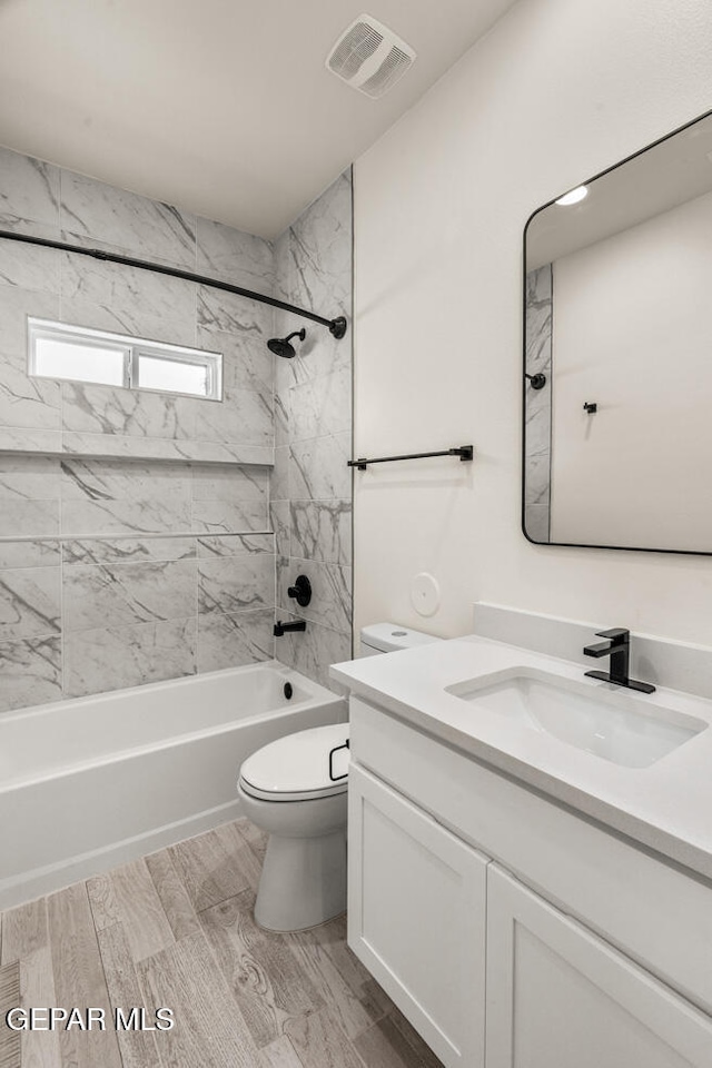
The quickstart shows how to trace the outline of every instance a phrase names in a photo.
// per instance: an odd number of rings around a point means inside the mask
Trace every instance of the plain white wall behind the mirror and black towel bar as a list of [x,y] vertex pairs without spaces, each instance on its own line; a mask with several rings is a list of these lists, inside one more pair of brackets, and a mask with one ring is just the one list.
[[703,0],[523,0],[357,161],[356,453],[477,455],[356,474],[356,626],[467,633],[483,599],[712,643],[712,558],[520,530],[524,224],[712,107],[711,51]]

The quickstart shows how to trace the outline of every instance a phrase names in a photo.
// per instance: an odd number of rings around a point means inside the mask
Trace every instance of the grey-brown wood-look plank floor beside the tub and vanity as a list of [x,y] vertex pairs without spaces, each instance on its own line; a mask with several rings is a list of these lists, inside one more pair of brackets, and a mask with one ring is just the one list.
[[[255,926],[264,846],[239,820],[6,912],[0,1068],[439,1068],[347,948],[345,917]],[[14,1006],[101,1008],[107,1029],[14,1032]],[[135,1006],[176,1025],[117,1032],[115,1008]]]

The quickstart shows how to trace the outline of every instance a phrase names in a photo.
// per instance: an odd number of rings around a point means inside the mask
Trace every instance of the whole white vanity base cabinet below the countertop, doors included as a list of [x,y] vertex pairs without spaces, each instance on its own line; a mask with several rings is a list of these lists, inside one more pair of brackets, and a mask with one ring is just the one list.
[[350,713],[348,941],[446,1068],[712,1066],[708,883]]

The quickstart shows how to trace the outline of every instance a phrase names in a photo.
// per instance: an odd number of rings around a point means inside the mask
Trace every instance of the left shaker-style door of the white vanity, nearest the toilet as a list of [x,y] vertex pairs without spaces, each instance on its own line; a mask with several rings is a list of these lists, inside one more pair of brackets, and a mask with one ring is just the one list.
[[358,765],[348,942],[451,1068],[484,1065],[486,858]]

